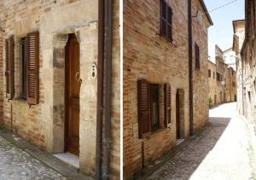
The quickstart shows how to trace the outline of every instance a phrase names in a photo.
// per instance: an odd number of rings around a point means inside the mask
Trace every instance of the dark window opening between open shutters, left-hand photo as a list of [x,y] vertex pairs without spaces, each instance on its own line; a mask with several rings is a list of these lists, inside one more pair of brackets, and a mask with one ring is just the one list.
[[26,38],[20,39],[20,100],[26,100]]

